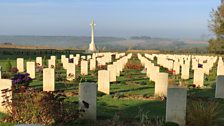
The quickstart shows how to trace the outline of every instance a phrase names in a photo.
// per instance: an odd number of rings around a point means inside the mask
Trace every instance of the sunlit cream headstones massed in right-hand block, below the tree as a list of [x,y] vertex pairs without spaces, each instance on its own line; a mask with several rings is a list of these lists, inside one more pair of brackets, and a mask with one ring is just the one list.
[[[204,76],[209,75],[217,57],[215,56],[187,56],[187,55],[163,55],[163,54],[145,54],[145,57],[154,60],[157,57],[157,63],[169,70],[174,70],[176,75],[181,74],[181,79],[187,80],[190,75],[190,67],[194,70],[193,83],[197,87],[204,86]],[[191,62],[192,61],[192,62]],[[190,65],[190,62],[192,63]]]

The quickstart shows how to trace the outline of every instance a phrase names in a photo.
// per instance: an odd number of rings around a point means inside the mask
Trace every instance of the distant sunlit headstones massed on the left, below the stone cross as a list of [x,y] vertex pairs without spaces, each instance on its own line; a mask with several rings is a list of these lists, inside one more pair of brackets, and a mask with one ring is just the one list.
[[[90,60],[90,70],[96,69],[96,62],[99,65],[105,65],[108,62],[111,62],[111,55],[113,53],[94,53],[92,56],[88,55],[87,59]],[[117,53],[116,58],[120,58],[124,54]],[[97,56],[101,56],[101,58],[97,58]],[[91,58],[92,57],[92,58]],[[73,63],[69,63],[69,59],[73,59]],[[88,75],[88,60],[85,60],[85,56],[81,56],[81,74]],[[65,55],[61,56],[61,63],[63,64],[63,68],[67,70],[67,79],[72,80],[75,77],[75,65],[78,65],[80,60],[80,54],[76,54],[74,57],[72,54],[69,55],[69,58],[66,58]],[[26,63],[26,70],[27,73],[30,74],[31,78],[35,78],[35,65],[38,64],[42,66],[42,57],[36,57],[36,62],[27,62]],[[48,68],[55,68],[56,65],[56,56],[51,56],[48,60]],[[19,72],[24,72],[24,59],[17,58],[17,68]],[[71,74],[74,76],[73,78],[69,77]]]

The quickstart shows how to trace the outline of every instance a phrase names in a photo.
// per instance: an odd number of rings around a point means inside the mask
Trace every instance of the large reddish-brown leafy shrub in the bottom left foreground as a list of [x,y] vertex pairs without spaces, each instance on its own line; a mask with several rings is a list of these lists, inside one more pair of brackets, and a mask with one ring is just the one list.
[[[7,93],[4,91],[3,93]],[[33,89],[16,93],[13,102],[3,97],[3,105],[8,109],[4,122],[41,125],[62,125],[78,119],[78,103],[65,102],[63,92],[43,92]]]

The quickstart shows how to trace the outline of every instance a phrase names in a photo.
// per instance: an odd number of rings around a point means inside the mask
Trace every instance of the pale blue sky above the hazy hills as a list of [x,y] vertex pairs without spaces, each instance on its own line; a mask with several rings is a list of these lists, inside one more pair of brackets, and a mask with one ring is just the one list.
[[0,35],[209,35],[210,12],[220,0],[0,0]]

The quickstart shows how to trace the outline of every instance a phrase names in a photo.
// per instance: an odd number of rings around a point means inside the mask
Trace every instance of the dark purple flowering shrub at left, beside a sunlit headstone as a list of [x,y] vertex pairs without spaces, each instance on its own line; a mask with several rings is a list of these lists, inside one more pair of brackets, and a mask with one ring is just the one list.
[[32,81],[32,79],[30,78],[30,75],[28,73],[25,73],[25,74],[16,74],[12,78],[13,85],[15,85],[17,87],[19,85],[28,87],[31,81]]

